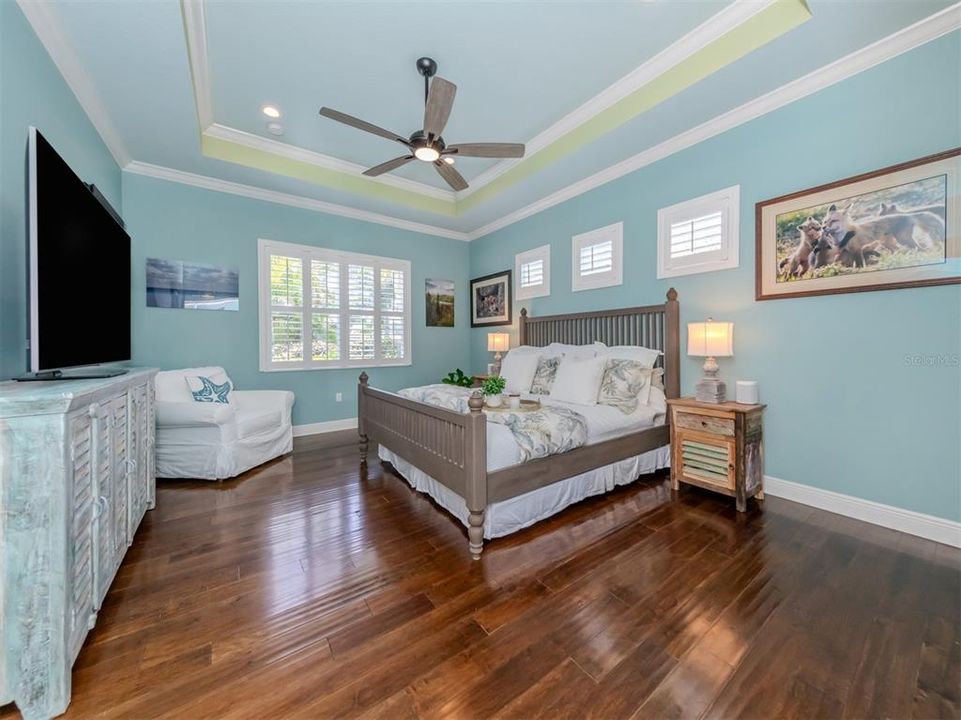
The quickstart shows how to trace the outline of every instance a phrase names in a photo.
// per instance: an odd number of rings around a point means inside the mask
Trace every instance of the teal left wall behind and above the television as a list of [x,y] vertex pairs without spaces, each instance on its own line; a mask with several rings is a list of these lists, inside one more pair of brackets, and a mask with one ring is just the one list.
[[27,367],[27,128],[120,208],[120,169],[15,2],[0,2],[0,379]]

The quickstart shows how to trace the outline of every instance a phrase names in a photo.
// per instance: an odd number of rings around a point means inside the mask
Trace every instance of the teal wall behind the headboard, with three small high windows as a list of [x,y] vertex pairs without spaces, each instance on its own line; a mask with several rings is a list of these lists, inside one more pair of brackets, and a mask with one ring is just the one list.
[[[961,145],[955,32],[471,243],[471,275],[551,244],[550,297],[532,314],[661,302],[683,324],[735,323],[721,374],[760,383],[769,475],[961,519],[961,286],[754,300],[754,204]],[[740,266],[657,280],[659,208],[740,184]],[[624,222],[624,284],[572,293],[571,236]],[[472,365],[489,362],[472,333]],[[682,340],[682,351],[686,338]],[[916,366],[908,356],[953,362]],[[700,363],[685,358],[682,390]]]

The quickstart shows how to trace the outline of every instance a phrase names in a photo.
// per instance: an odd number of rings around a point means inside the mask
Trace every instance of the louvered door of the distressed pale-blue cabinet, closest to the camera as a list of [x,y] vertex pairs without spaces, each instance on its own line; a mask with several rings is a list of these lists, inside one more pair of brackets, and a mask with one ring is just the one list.
[[67,650],[71,661],[77,657],[93,619],[93,515],[94,442],[93,422],[85,408],[69,417],[68,441],[71,475],[69,589],[67,596]]

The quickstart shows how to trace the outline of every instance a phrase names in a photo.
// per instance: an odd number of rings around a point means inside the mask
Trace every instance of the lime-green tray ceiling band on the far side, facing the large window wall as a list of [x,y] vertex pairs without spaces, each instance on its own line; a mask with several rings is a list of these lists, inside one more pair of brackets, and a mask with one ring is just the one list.
[[266,150],[247,147],[206,134],[201,135],[200,146],[204,155],[218,160],[266,170],[267,172],[297,180],[305,180],[335,190],[375,197],[438,215],[454,216],[457,214],[456,206],[450,200],[428,197],[403,188],[385,185],[370,180],[363,175],[322,168],[302,160],[294,160]]

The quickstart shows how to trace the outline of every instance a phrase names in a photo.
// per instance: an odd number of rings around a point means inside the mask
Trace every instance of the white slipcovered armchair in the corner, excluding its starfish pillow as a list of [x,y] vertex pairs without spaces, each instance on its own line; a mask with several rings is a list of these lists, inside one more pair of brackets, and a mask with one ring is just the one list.
[[157,373],[157,477],[223,480],[290,452],[294,394],[232,390],[228,403],[194,400],[187,378],[221,373],[219,367]]

